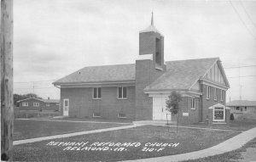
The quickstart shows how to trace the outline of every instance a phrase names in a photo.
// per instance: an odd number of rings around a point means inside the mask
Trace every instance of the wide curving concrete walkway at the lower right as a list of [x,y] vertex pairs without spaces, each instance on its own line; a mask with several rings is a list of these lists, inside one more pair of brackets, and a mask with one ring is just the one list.
[[248,131],[243,131],[241,134],[236,135],[236,137],[231,137],[227,141],[221,142],[212,148],[206,148],[195,152],[185,153],[185,154],[175,154],[170,156],[163,156],[150,159],[137,159],[131,161],[143,161],[143,162],[166,162],[166,161],[183,161],[188,159],[200,159],[208,156],[213,156],[217,154],[224,154],[238,148],[241,148],[244,144],[251,141],[256,137],[256,127]]

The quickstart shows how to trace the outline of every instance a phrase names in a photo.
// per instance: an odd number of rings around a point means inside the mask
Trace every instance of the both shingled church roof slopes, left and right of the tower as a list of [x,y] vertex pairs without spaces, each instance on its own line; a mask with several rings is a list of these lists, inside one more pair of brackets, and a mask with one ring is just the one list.
[[[168,61],[166,73],[145,90],[189,89],[217,60],[218,58]],[[84,67],[53,84],[103,81],[135,81],[135,64]]]

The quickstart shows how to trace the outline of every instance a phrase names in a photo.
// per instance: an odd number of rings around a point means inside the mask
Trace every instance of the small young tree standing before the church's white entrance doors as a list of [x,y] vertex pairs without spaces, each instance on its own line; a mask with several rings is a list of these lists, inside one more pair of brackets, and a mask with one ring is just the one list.
[[177,127],[178,127],[178,103],[182,100],[181,94],[179,92],[173,91],[169,99],[166,100],[166,110],[172,113],[172,115],[177,115]]

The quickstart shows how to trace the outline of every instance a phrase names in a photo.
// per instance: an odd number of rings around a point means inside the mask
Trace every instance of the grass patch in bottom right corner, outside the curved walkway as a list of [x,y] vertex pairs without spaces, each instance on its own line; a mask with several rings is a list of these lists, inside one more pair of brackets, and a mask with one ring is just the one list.
[[[238,149],[228,152],[228,153],[218,154],[215,156],[209,156],[207,158],[202,158],[202,159],[186,160],[183,162],[217,162],[217,161],[234,162],[234,161],[241,161],[241,160],[243,160],[241,154],[246,152],[247,148],[256,148],[256,138],[254,138],[250,142],[247,142],[247,144],[245,144],[243,147],[238,148]],[[245,160],[248,161],[247,159],[245,159]]]

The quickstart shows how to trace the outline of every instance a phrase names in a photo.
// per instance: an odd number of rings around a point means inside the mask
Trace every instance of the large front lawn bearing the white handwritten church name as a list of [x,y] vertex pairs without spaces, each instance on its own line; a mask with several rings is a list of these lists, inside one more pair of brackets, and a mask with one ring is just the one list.
[[19,161],[119,161],[183,154],[210,148],[238,131],[138,126],[14,147]]

